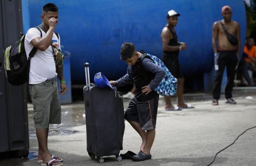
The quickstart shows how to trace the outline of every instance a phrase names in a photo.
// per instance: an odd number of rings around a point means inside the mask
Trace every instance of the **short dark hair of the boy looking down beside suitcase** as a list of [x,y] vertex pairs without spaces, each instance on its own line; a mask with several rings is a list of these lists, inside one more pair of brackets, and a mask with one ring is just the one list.
[[131,58],[135,50],[134,43],[123,43],[120,50],[120,59],[125,61]]

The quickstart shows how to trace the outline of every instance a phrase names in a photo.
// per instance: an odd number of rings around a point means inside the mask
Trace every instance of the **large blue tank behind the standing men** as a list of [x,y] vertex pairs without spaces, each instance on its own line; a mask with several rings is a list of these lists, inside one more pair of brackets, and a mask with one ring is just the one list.
[[212,25],[222,19],[222,6],[231,6],[232,20],[241,26],[244,45],[243,0],[22,0],[25,32],[41,23],[42,6],[48,2],[59,8],[56,31],[61,36],[62,49],[71,53],[73,83],[84,82],[84,62],[90,63],[92,78],[97,72],[109,80],[124,75],[127,65],[119,60],[119,50],[125,41],[161,57],[160,32],[171,9],[181,14],[176,31],[179,41],[187,43],[186,51],[180,53],[185,75],[212,69]]

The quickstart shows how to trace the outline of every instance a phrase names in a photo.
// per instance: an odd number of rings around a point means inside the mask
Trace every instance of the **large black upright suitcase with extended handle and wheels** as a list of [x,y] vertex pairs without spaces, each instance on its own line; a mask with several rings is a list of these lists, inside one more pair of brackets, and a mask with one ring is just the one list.
[[125,131],[123,100],[116,88],[99,89],[90,83],[89,64],[84,63],[86,86],[84,105],[86,117],[87,152],[100,163],[102,157],[119,156]]

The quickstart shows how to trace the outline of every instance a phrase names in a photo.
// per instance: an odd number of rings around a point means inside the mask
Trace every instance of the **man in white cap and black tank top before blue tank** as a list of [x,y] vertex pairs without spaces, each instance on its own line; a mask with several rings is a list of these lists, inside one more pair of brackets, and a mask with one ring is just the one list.
[[178,16],[180,16],[180,14],[177,14],[176,11],[168,11],[166,16],[167,25],[161,32],[161,39],[163,44],[162,61],[172,73],[172,75],[178,80],[177,107],[172,106],[171,96],[166,96],[166,111],[179,111],[181,109],[194,108],[190,104],[185,104],[183,101],[184,77],[179,64],[179,51],[184,51],[186,49],[186,43],[178,42],[177,34],[174,29],[178,22]]

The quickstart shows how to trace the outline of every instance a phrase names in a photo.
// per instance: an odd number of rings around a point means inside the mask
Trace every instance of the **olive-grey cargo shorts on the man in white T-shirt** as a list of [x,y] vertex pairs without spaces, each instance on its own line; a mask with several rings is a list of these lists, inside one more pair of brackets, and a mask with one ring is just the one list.
[[35,128],[46,129],[48,124],[61,124],[61,103],[56,77],[43,83],[29,84],[33,103]]

